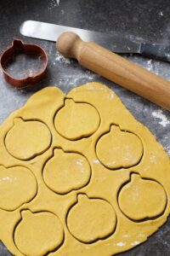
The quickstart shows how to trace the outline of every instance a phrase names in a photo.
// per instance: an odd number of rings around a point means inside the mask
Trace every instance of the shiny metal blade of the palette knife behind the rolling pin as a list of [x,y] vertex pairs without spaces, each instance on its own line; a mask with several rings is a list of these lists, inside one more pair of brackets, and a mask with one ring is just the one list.
[[20,26],[20,33],[26,37],[57,41],[63,32],[76,32],[83,41],[94,41],[117,53],[139,53],[141,44],[118,32],[111,34],[93,32],[71,26],[60,26],[35,20],[26,20]]

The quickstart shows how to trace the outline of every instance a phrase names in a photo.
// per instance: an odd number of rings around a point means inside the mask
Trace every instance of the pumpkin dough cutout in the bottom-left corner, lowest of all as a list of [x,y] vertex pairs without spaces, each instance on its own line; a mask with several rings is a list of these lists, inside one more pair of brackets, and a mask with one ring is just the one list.
[[57,249],[64,239],[59,218],[51,212],[29,210],[21,212],[22,218],[14,230],[14,242],[26,256],[42,256]]

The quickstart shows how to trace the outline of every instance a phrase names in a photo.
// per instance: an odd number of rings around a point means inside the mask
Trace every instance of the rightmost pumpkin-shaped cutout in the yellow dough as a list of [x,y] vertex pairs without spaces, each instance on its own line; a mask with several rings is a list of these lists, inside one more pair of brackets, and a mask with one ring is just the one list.
[[167,195],[160,183],[132,174],[118,195],[122,212],[135,221],[159,217],[167,206]]

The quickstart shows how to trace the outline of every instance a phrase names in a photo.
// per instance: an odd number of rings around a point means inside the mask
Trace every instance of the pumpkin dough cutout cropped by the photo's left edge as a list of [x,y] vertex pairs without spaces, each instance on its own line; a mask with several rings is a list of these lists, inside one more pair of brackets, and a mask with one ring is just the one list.
[[37,194],[37,180],[22,166],[0,166],[0,208],[14,211]]

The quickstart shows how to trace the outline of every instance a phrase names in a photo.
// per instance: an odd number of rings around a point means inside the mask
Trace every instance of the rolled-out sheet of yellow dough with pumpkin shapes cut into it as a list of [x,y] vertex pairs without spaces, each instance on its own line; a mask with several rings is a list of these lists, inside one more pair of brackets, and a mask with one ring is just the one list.
[[169,184],[168,155],[103,84],[40,90],[0,127],[0,240],[16,256],[127,251],[166,222]]

